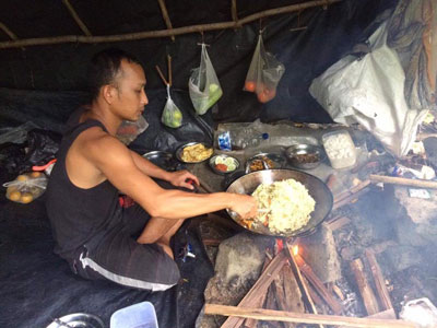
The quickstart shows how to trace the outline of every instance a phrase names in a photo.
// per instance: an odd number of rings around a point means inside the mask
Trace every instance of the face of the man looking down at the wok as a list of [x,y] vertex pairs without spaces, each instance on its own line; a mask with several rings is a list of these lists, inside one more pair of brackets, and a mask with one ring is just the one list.
[[144,106],[149,104],[144,92],[144,71],[140,65],[125,59],[120,68],[115,81],[118,95],[111,105],[115,113],[123,120],[135,121],[144,112]]

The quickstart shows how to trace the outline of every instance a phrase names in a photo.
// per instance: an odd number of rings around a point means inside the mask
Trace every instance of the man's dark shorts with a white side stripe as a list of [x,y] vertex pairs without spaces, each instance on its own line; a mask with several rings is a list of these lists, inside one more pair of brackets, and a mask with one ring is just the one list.
[[164,291],[179,278],[176,262],[155,244],[139,244],[150,215],[138,204],[122,209],[121,222],[85,244],[72,260],[72,270],[83,278],[110,280],[149,291]]

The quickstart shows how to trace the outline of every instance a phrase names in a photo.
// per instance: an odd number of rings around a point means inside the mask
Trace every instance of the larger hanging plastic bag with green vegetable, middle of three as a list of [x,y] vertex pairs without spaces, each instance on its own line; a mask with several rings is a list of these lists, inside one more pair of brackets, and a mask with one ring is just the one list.
[[199,115],[205,114],[223,95],[204,44],[202,44],[200,67],[192,71],[188,90],[196,113]]

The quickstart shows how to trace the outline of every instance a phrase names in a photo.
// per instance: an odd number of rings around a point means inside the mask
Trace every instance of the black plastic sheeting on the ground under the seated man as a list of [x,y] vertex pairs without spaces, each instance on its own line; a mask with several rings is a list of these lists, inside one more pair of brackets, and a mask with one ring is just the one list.
[[174,239],[176,254],[189,242],[197,256],[186,262],[176,259],[184,281],[166,292],[150,294],[74,276],[52,253],[44,195],[23,206],[1,194],[0,207],[0,327],[47,327],[54,318],[72,313],[94,314],[109,327],[114,312],[143,301],[155,306],[160,327],[194,326],[203,290],[213,274],[196,225],[185,224]]

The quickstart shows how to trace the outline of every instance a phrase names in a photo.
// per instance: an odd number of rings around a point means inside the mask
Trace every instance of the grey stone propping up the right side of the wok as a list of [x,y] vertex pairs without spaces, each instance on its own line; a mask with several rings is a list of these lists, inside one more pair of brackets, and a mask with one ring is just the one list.
[[323,223],[316,233],[300,238],[299,245],[305,261],[323,283],[341,278],[339,255],[328,224]]

